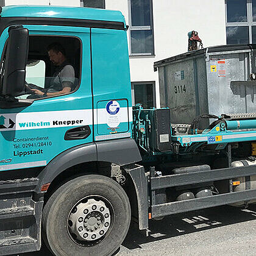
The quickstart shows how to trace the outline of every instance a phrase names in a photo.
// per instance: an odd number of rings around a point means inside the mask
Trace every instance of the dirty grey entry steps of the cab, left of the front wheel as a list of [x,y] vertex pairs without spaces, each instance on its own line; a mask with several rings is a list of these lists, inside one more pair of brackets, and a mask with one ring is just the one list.
[[0,255],[39,251],[43,196],[38,179],[0,181]]

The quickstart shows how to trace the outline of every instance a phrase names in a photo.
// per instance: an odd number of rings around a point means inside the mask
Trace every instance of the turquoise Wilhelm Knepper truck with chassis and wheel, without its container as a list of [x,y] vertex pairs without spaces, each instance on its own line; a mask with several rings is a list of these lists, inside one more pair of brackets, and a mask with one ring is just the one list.
[[[174,124],[168,107],[132,107],[121,12],[18,5],[0,15],[0,255],[43,241],[53,255],[112,255],[131,220],[147,234],[149,219],[255,203],[256,114]],[[49,87],[54,42],[74,88],[31,99],[27,84]]]

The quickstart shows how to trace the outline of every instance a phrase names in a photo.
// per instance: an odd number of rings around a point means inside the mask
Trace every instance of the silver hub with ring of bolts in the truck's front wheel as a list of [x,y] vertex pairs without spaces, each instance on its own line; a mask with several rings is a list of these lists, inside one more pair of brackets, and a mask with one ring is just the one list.
[[68,230],[79,241],[95,241],[105,235],[110,227],[110,210],[101,200],[80,202],[69,215]]

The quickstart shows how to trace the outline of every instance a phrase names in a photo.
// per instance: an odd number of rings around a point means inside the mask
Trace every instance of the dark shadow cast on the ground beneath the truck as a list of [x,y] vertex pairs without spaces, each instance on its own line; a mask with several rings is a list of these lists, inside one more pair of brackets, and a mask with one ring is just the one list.
[[[124,240],[123,246],[129,250],[141,248],[141,244],[163,240],[201,230],[214,229],[215,227],[229,226],[231,224],[251,221],[256,219],[256,205],[249,208],[236,208],[228,205],[221,207],[180,213],[165,217],[160,221],[149,221],[149,236],[145,236],[132,224]],[[118,254],[116,251],[115,255]],[[50,256],[49,251],[43,246],[40,252],[20,254],[20,256]]]

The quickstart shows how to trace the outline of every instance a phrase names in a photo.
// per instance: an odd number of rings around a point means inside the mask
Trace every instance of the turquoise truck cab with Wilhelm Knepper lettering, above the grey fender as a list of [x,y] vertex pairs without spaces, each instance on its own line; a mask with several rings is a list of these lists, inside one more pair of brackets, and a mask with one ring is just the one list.
[[[84,24],[85,17],[92,27]],[[130,138],[129,59],[126,24],[120,12],[36,6],[28,12],[23,6],[4,7],[0,25],[3,53],[12,24],[22,25],[29,34],[26,82],[49,86],[54,66],[46,48],[53,42],[66,49],[76,81],[69,94],[34,100],[21,95],[15,108],[6,105],[1,111],[5,148],[1,160],[9,162],[0,166],[1,171],[46,166],[56,155],[80,144]],[[27,105],[19,107],[19,101],[27,101]]]

